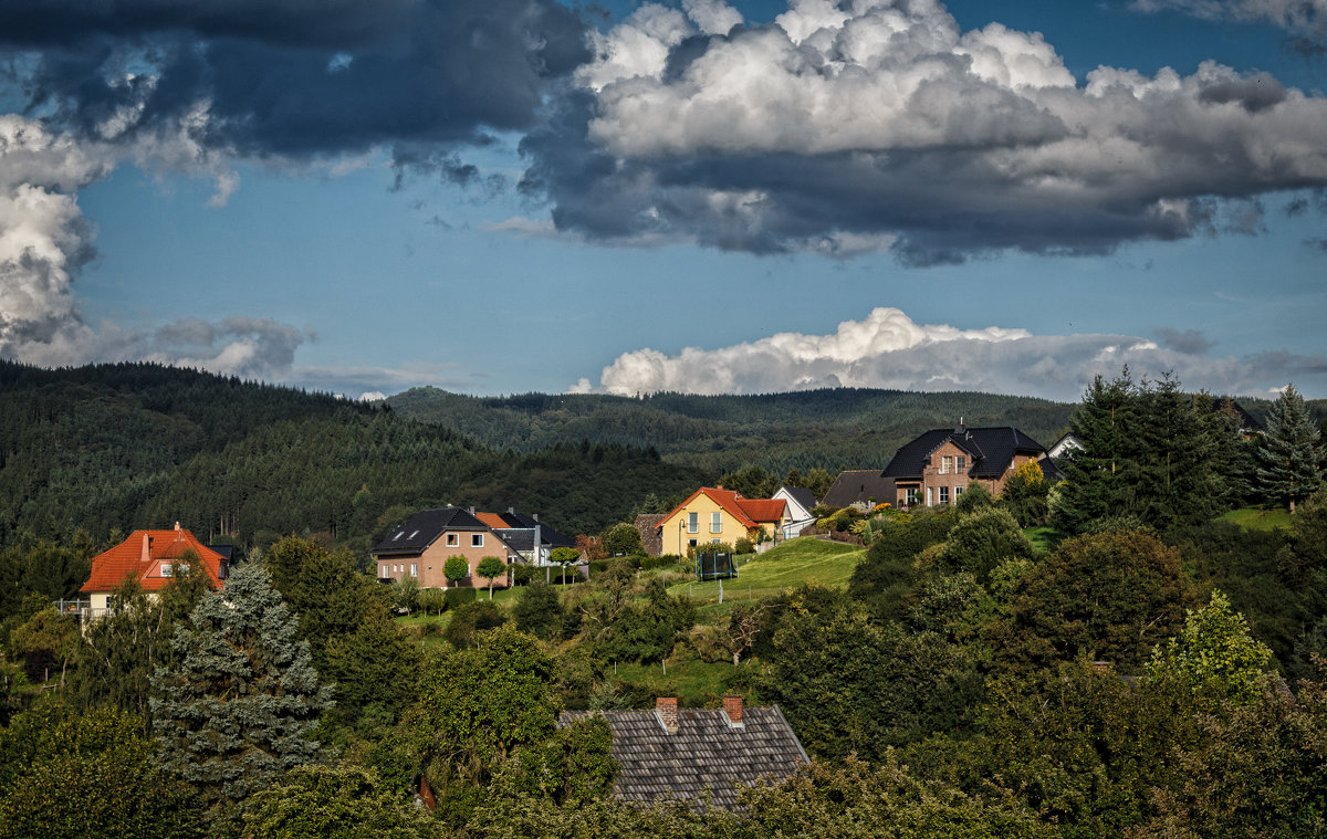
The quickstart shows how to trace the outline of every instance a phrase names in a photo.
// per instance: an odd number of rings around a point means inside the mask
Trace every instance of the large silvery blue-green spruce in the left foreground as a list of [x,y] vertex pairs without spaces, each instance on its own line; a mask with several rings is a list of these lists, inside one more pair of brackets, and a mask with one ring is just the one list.
[[329,705],[299,623],[259,564],[240,566],[179,627],[179,664],[153,678],[163,769],[214,812],[320,757],[311,729]]

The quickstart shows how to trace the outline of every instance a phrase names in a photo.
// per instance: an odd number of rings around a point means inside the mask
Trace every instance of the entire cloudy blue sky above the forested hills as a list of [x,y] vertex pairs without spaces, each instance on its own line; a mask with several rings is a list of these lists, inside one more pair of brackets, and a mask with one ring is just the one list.
[[0,357],[1327,397],[1327,0],[0,5]]

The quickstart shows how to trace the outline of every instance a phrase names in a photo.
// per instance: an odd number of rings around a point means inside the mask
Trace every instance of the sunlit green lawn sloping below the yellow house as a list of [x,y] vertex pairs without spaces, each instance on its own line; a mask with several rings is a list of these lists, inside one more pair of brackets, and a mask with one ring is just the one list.
[[[736,579],[722,580],[723,605],[730,607],[734,600],[772,597],[802,583],[845,588],[852,570],[865,554],[852,544],[821,542],[812,536],[786,542],[771,551],[739,560]],[[702,619],[707,620],[711,615],[727,611],[709,608],[719,605],[719,580],[679,583],[669,588],[669,592],[690,596],[701,609]]]

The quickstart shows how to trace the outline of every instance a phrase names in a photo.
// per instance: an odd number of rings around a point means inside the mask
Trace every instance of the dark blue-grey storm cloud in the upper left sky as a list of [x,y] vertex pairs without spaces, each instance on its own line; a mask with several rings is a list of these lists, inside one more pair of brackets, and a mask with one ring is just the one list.
[[524,129],[588,54],[553,0],[45,0],[0,5],[0,46],[37,54],[15,65],[29,113],[252,157]]

